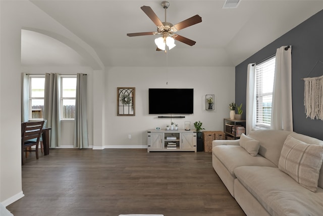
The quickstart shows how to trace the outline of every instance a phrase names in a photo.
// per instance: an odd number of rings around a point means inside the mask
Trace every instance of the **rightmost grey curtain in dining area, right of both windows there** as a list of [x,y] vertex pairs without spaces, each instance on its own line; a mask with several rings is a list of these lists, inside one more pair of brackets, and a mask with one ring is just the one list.
[[78,73],[76,80],[74,148],[87,148],[87,75]]

